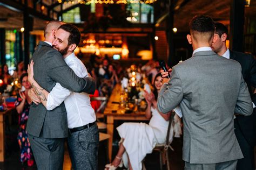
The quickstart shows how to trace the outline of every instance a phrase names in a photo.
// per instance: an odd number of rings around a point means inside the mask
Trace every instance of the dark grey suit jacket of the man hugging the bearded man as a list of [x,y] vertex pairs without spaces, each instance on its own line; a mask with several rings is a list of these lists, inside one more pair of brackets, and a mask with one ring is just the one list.
[[[34,78],[42,88],[51,91],[56,82],[75,92],[93,94],[95,81],[91,77],[79,78],[66,65],[63,56],[46,42],[40,41],[32,56],[35,62]],[[64,103],[48,111],[43,104],[32,103],[26,131],[36,137],[65,138],[68,137],[68,121]]]

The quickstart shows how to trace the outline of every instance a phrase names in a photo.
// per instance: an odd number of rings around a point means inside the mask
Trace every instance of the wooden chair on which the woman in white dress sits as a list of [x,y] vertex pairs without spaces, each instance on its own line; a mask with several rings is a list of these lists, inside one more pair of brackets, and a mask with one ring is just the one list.
[[166,140],[164,144],[157,144],[153,151],[158,151],[159,152],[159,159],[160,159],[160,170],[163,169],[163,165],[165,165],[165,162],[167,161],[167,169],[170,170],[170,160],[169,160],[169,148],[173,150],[171,143],[169,142],[169,137],[170,137],[170,130],[172,126],[172,121],[173,117],[175,115],[175,112],[172,112],[170,118],[169,118],[169,125],[168,125],[168,130],[166,134]]

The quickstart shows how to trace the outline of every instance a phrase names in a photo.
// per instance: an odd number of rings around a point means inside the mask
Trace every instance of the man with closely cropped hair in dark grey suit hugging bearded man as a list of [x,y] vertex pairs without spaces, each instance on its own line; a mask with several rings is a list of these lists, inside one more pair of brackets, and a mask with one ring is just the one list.
[[[42,88],[51,91],[56,82],[75,92],[93,94],[92,77],[79,78],[66,65],[63,56],[52,48],[55,32],[62,23],[49,22],[44,30],[45,41],[40,41],[32,56],[34,78]],[[33,86],[33,84],[32,84]],[[62,169],[64,140],[68,137],[68,122],[64,103],[48,111],[42,103],[33,103],[29,111],[26,131],[38,169]]]

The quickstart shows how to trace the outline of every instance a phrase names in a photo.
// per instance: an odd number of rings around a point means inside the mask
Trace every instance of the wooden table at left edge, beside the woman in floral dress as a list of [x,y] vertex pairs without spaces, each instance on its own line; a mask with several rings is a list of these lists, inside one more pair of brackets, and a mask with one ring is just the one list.
[[5,116],[11,114],[15,108],[8,108],[5,111],[0,111],[0,162],[4,162],[4,138],[5,138]]

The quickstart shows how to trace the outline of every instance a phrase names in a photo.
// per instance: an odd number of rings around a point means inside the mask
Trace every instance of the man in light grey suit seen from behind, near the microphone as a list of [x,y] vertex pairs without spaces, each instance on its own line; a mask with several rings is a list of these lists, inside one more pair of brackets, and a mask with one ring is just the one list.
[[234,112],[248,116],[253,110],[240,64],[210,47],[214,27],[208,16],[191,20],[187,39],[193,56],[172,68],[171,80],[158,96],[159,111],[180,105],[183,113],[185,169],[235,169],[242,153],[234,134]]

